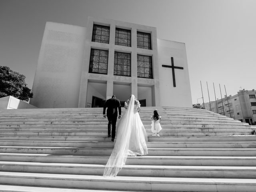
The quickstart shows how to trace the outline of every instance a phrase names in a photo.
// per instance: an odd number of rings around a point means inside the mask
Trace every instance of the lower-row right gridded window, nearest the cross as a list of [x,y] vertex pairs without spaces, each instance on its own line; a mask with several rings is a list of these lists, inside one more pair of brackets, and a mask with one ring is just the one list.
[[142,78],[153,78],[151,56],[137,55],[137,76]]

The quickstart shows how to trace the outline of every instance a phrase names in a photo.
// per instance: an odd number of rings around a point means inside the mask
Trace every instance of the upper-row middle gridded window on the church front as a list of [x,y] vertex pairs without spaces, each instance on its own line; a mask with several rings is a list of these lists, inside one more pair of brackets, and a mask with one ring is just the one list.
[[116,28],[115,45],[131,46],[131,30]]

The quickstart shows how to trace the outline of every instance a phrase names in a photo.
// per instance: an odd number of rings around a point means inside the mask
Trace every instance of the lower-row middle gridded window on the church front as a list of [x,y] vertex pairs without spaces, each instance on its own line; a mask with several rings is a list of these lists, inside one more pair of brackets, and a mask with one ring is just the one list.
[[115,52],[114,75],[131,76],[131,54]]

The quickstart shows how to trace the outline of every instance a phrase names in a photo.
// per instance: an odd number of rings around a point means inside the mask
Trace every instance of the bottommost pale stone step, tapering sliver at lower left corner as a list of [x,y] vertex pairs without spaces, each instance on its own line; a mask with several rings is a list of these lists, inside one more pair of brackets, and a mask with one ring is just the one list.
[[[52,187],[35,187],[35,186],[14,186],[0,185],[1,192],[131,192],[126,190],[92,190],[92,189],[71,189],[71,188],[52,188]],[[134,191],[133,192],[138,192]]]

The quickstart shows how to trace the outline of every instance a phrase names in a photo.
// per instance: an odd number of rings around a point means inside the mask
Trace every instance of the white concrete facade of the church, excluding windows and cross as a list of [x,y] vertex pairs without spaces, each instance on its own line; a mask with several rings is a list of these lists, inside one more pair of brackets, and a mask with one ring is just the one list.
[[[92,42],[94,24],[110,27],[109,43]],[[116,28],[131,31],[131,46],[115,44]],[[151,35],[151,49],[137,48],[137,32]],[[59,53],[60,46],[66,51]],[[89,72],[91,49],[108,51],[107,74]],[[131,55],[130,76],[114,75],[115,52]],[[152,57],[153,78],[137,76],[137,55]],[[176,87],[172,69],[162,67],[171,66],[171,57],[175,66],[184,68],[175,69]],[[134,94],[138,100],[146,100],[146,106],[192,107],[184,43],[157,39],[155,27],[94,17],[88,18],[86,28],[46,23],[32,92],[30,103],[39,108],[90,107],[93,97],[104,101],[113,94],[121,101]]]

